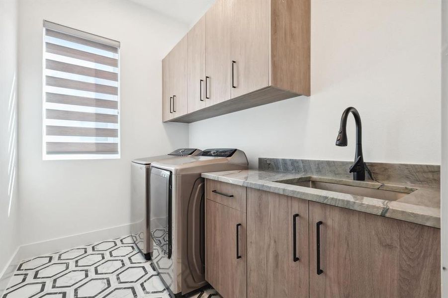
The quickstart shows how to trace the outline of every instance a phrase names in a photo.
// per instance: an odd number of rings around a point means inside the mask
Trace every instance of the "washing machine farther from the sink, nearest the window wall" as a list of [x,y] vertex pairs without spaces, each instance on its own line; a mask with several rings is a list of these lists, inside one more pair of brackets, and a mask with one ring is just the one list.
[[151,163],[156,160],[198,155],[199,149],[181,148],[166,155],[137,158],[131,162],[131,235],[134,243],[150,258],[152,250],[149,227],[149,195]]

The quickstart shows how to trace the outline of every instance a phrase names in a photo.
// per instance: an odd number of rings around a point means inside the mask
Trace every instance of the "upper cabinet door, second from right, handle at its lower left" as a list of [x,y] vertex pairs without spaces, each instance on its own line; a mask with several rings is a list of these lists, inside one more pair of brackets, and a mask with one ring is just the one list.
[[215,1],[205,13],[206,106],[230,99],[230,0]]

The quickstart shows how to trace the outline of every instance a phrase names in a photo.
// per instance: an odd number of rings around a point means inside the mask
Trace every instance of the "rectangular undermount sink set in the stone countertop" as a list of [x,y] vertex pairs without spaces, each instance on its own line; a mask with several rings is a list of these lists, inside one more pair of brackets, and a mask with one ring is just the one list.
[[[337,180],[337,182],[322,181],[331,179],[321,179],[320,181],[319,180],[320,180],[319,177],[303,177],[299,179],[280,180],[275,182],[327,190],[327,191],[334,191],[338,193],[369,197],[387,201],[396,201],[417,190],[415,188],[408,188],[394,185],[393,186],[394,191],[391,191],[391,190],[376,189],[374,188],[375,184],[372,185],[372,183],[369,182],[356,181],[356,184],[358,184],[358,186],[353,186],[353,185],[347,185],[352,182],[348,180],[335,179]],[[365,183],[365,186],[361,186],[363,183]],[[387,185],[382,185],[382,187],[387,188]]]

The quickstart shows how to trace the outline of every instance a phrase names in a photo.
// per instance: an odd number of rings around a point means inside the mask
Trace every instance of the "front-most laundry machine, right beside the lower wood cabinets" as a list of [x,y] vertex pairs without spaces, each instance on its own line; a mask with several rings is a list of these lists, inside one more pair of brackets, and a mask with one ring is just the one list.
[[152,260],[174,296],[205,285],[204,172],[248,168],[239,149],[207,149],[197,156],[151,164]]

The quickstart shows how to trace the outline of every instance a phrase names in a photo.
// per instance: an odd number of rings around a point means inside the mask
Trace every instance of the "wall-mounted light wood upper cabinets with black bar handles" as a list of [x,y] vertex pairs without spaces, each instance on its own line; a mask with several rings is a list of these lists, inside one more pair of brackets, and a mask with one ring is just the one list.
[[188,108],[164,121],[190,123],[310,95],[310,1],[216,1],[182,53]]

